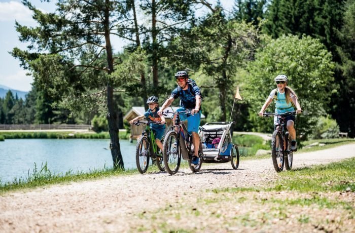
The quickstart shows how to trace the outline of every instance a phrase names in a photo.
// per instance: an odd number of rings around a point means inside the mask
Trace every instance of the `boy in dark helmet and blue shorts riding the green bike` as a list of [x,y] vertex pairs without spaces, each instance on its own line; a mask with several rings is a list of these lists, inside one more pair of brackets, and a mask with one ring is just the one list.
[[159,111],[159,99],[156,96],[151,96],[148,98],[147,103],[149,105],[148,111],[146,111],[146,113],[144,113],[143,115],[138,115],[138,117],[129,121],[129,123],[132,125],[134,121],[143,118],[148,118],[151,121],[160,122],[160,124],[151,123],[150,126],[154,132],[155,142],[157,143],[157,146],[161,149],[161,151],[163,151],[163,144],[161,143],[161,139],[164,136],[165,131],[165,118],[163,115],[158,115],[157,113]]

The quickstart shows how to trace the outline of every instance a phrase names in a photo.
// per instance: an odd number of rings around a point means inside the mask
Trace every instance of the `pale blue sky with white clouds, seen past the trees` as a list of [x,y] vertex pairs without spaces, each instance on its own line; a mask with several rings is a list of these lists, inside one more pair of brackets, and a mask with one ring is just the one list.
[[[30,1],[43,12],[54,12],[55,2],[42,3],[40,0]],[[216,1],[211,1],[216,2]],[[221,0],[225,9],[232,9],[234,1]],[[30,91],[33,79],[26,75],[28,71],[20,67],[20,62],[9,54],[13,48],[26,49],[28,44],[18,40],[19,33],[15,29],[15,20],[21,25],[35,26],[31,11],[22,5],[20,0],[0,0],[0,85],[19,91]],[[120,51],[124,43],[114,39],[113,47]]]

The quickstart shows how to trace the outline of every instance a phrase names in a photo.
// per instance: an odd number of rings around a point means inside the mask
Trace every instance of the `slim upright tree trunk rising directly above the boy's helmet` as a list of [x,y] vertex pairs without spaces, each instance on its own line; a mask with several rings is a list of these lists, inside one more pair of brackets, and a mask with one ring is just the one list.
[[158,88],[158,55],[157,55],[157,16],[156,3],[152,0],[152,71],[153,71],[153,87]]

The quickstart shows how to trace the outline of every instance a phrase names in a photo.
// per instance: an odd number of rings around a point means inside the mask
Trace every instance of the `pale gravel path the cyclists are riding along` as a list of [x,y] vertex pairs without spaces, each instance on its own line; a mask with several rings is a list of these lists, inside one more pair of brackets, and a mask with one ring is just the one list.
[[[355,144],[294,154],[294,168],[355,157]],[[278,179],[271,159],[202,165],[176,175],[150,173],[72,182],[0,196],[0,232],[107,232],[132,230],[134,216],[163,208],[186,193],[221,187],[253,187]]]

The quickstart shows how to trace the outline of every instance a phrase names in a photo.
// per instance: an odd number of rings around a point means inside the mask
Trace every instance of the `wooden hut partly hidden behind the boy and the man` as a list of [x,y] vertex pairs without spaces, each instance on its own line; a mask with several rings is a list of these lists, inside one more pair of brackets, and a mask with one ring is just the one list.
[[[179,107],[168,107],[167,109],[169,111],[176,111],[176,109]],[[146,112],[146,110],[144,109],[144,107],[132,107],[123,117],[123,120],[126,121],[131,121],[132,119],[138,117],[138,115],[143,115]],[[205,118],[205,116],[202,114],[201,118]],[[143,120],[142,120],[143,121]],[[172,126],[172,114],[168,114],[165,117],[165,122],[166,122],[166,129],[165,131],[169,131],[171,129]],[[135,126],[135,125],[131,125],[131,135],[134,139],[137,139],[141,136],[143,130],[145,129],[145,126],[140,125],[140,126]],[[165,133],[166,133],[165,132]]]

